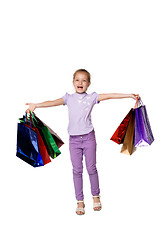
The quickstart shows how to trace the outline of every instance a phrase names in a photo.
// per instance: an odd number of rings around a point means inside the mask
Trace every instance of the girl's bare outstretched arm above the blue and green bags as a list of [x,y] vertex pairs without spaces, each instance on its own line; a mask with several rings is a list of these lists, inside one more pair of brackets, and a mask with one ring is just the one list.
[[26,103],[26,105],[29,105],[28,109],[26,110],[27,113],[29,111],[33,112],[36,108],[41,108],[41,107],[55,107],[55,106],[60,106],[64,104],[63,98],[59,98],[53,101],[46,101],[42,103]]

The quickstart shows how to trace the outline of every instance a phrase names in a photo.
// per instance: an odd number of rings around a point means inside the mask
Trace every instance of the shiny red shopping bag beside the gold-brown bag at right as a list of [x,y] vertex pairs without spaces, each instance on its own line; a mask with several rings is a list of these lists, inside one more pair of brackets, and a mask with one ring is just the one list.
[[118,128],[116,129],[112,137],[110,138],[110,140],[118,144],[123,143],[124,136],[128,127],[129,119],[131,116],[131,112],[132,112],[132,109],[129,111],[129,113],[125,116],[123,121],[120,123],[120,125],[118,126]]

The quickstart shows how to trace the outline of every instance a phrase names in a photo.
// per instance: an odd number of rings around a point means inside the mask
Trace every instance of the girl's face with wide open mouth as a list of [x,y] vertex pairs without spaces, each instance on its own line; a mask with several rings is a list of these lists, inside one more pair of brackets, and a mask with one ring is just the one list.
[[76,93],[84,93],[87,91],[90,86],[90,82],[88,81],[88,75],[84,72],[77,72],[75,78],[73,80],[73,86],[75,88]]

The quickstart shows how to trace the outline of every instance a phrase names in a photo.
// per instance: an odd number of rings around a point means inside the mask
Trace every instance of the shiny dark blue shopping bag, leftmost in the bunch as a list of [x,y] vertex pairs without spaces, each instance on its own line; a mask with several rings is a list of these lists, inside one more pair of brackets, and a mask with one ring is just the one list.
[[37,133],[24,123],[17,127],[17,152],[16,156],[32,165],[43,166],[42,156],[38,147]]

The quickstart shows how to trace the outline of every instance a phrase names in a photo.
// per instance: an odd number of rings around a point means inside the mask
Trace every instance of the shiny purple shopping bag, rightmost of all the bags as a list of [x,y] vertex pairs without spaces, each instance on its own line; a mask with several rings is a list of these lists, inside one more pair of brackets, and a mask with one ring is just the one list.
[[140,100],[139,104],[135,109],[135,147],[148,146],[154,141],[146,106]]

